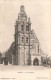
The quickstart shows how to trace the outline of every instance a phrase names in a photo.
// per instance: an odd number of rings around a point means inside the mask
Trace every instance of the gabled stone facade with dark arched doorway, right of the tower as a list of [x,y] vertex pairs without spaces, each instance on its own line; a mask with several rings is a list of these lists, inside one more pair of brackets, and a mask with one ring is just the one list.
[[40,52],[40,45],[39,40],[37,39],[34,30],[32,30],[31,35],[31,65],[41,65],[41,52]]

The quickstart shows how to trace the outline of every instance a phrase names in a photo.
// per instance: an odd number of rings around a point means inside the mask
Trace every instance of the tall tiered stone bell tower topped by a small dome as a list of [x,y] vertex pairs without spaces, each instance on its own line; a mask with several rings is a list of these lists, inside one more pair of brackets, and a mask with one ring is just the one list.
[[15,24],[15,64],[28,65],[30,60],[31,21],[27,18],[25,8],[20,7],[20,13]]

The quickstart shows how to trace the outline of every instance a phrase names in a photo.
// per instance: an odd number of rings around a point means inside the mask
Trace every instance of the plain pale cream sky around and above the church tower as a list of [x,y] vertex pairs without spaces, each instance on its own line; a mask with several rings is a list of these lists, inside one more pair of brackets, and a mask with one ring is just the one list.
[[0,52],[9,49],[14,41],[15,22],[24,5],[39,39],[42,51],[51,56],[51,1],[50,0],[0,0]]

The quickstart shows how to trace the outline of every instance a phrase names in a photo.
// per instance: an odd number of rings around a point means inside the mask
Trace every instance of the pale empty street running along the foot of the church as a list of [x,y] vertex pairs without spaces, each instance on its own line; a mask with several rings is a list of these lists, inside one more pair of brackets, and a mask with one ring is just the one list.
[[3,65],[0,64],[0,71],[5,70],[44,70],[44,69],[51,69],[50,67],[43,67],[43,66],[17,66],[17,65]]

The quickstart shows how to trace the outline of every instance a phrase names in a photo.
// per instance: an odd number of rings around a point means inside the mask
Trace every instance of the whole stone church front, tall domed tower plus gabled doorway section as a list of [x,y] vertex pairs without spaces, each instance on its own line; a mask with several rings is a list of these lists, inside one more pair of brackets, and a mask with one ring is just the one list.
[[31,21],[27,17],[22,5],[15,23],[13,65],[41,65],[41,52],[39,40],[34,30],[31,30]]

